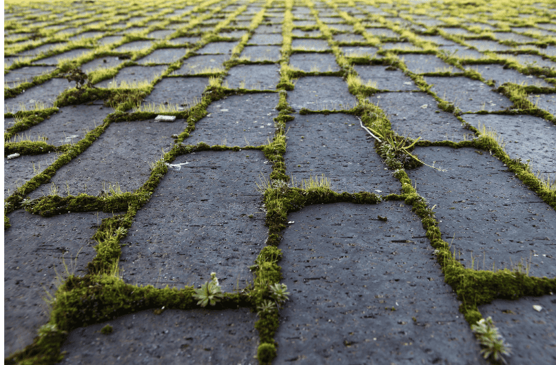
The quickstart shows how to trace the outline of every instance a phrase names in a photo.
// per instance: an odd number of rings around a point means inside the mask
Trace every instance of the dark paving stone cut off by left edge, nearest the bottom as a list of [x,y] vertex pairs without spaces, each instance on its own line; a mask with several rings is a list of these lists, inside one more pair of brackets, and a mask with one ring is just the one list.
[[[30,157],[30,156],[28,156]],[[68,213],[52,218],[22,209],[10,213],[4,232],[4,356],[32,344],[50,313],[43,298],[54,295],[56,277],[77,276],[96,255],[91,239],[107,213]]]

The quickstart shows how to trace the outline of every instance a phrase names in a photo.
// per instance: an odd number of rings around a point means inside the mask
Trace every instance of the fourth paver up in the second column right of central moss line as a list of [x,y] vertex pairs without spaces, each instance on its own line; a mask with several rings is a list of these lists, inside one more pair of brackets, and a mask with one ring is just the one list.
[[409,76],[400,70],[388,70],[386,66],[354,65],[353,69],[367,83],[375,82],[375,88],[390,91],[419,90]]

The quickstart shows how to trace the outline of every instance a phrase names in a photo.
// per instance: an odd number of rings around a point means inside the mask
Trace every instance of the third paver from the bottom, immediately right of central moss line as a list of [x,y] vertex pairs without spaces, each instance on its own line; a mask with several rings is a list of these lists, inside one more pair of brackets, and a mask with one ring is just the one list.
[[293,92],[288,95],[291,107],[309,110],[347,110],[357,104],[349,93],[347,83],[336,76],[300,77]]

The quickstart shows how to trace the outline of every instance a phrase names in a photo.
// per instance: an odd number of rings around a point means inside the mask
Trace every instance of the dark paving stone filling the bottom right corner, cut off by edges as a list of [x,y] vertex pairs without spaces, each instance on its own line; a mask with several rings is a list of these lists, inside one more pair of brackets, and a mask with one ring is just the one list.
[[[548,259],[547,259],[548,260]],[[512,346],[508,364],[550,364],[556,361],[556,309],[554,295],[494,300],[479,306],[483,317],[492,317],[499,333]],[[541,306],[537,312],[533,306]]]

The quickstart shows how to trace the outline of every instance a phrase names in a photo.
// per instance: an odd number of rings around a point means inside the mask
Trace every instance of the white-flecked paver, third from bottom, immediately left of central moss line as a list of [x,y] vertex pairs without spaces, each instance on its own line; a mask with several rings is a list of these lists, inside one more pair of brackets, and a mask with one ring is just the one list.
[[273,118],[278,115],[278,94],[229,96],[207,108],[208,115],[195,124],[194,132],[183,141],[187,145],[264,145],[274,136]]

